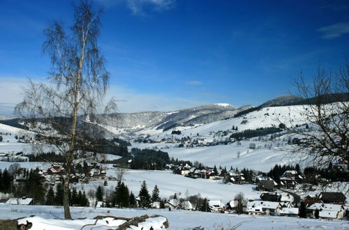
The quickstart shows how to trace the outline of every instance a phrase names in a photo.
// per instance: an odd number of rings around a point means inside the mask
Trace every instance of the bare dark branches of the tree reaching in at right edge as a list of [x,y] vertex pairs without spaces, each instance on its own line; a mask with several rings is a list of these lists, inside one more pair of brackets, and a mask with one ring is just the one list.
[[306,154],[315,167],[341,160],[349,167],[349,63],[337,72],[318,68],[311,84],[301,74],[295,82],[305,102],[305,127],[288,130],[296,135],[292,152]]

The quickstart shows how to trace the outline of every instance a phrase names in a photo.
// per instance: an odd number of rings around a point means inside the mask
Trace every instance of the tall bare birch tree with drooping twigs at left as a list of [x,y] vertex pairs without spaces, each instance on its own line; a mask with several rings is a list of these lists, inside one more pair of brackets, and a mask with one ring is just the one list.
[[[48,83],[29,80],[24,100],[15,108],[41,143],[55,146],[64,156],[66,219],[71,219],[69,189],[74,164],[84,159],[89,140],[100,134],[96,123],[84,119],[101,117],[96,114],[101,113],[110,78],[97,43],[102,11],[95,11],[89,1],[80,1],[73,6],[74,22],[68,30],[59,22],[44,30],[43,54],[52,63]],[[114,102],[105,109],[115,109]]]

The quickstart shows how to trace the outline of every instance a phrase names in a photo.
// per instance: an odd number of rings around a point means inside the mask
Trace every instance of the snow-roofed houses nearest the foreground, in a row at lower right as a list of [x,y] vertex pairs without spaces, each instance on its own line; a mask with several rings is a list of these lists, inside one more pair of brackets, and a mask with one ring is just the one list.
[[[311,200],[305,199],[306,217],[325,220],[343,219],[349,217],[349,206],[345,206],[346,196],[342,192],[321,192]],[[159,202],[154,202],[152,208],[160,208]],[[195,210],[190,201],[170,199],[165,203],[169,210]],[[207,210],[214,213],[235,213],[235,201],[224,205],[221,201],[208,201]],[[263,192],[260,200],[250,200],[244,207],[248,215],[278,215],[299,217],[300,207],[292,204],[292,198],[281,194]]]

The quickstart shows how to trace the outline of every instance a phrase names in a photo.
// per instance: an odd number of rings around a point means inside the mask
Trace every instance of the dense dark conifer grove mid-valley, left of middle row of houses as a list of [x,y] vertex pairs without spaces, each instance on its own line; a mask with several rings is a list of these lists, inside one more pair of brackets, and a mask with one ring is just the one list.
[[170,162],[168,153],[152,149],[132,148],[131,155],[133,155],[131,169],[163,170]]

